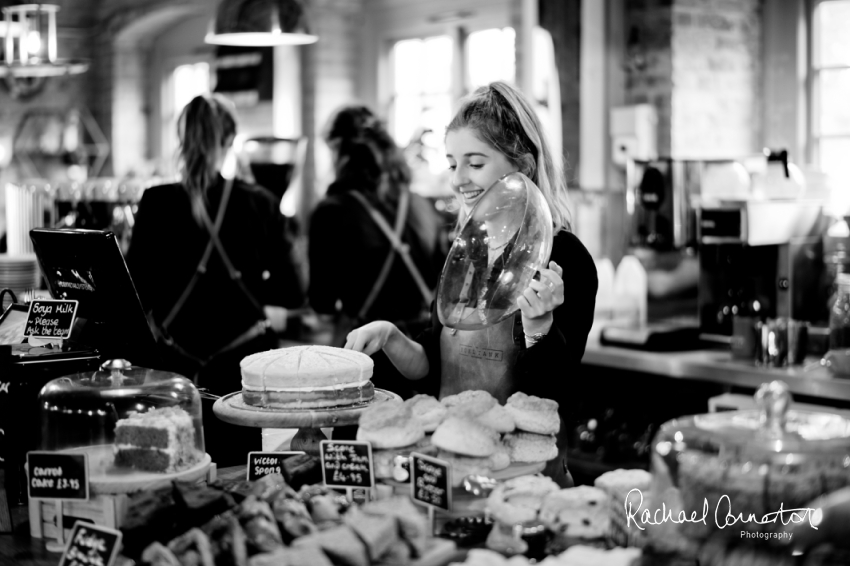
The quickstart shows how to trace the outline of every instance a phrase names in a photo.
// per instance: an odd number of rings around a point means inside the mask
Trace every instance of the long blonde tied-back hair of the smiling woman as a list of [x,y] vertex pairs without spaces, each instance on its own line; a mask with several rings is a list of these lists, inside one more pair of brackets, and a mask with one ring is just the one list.
[[563,158],[552,155],[540,119],[520,91],[501,81],[477,89],[461,101],[446,133],[462,128],[475,132],[540,187],[555,232],[570,230]]

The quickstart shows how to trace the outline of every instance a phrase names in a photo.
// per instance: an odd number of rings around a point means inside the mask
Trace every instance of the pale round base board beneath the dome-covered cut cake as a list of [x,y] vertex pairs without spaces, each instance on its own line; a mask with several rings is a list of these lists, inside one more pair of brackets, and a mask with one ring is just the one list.
[[185,470],[171,473],[144,472],[129,468],[116,468],[113,465],[115,454],[112,444],[72,448],[63,452],[85,452],[89,457],[89,489],[93,495],[132,493],[136,491],[156,489],[171,483],[172,480],[197,481],[203,478],[212,458],[204,454],[201,461]]

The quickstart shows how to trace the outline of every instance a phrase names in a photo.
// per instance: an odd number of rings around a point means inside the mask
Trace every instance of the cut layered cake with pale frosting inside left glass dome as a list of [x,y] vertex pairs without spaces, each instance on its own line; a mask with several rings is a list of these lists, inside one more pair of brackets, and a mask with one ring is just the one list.
[[200,457],[192,417],[180,407],[131,413],[115,423],[117,467],[175,472],[191,467]]

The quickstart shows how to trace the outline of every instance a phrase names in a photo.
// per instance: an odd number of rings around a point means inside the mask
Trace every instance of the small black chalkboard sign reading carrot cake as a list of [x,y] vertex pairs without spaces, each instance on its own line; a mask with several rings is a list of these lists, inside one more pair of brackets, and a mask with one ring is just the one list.
[[31,499],[88,499],[89,466],[86,454],[27,452]]

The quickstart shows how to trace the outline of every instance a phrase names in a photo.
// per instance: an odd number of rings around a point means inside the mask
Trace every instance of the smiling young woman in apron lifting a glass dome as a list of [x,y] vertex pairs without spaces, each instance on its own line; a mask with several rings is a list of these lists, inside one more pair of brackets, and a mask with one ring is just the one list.
[[[522,172],[540,189],[552,213],[555,233],[548,268],[540,270],[517,300],[519,311],[481,330],[440,324],[432,307],[431,327],[416,340],[392,324],[377,321],[352,331],[346,348],[369,355],[383,350],[415,387],[440,397],[484,390],[504,403],[518,391],[554,399],[563,408],[569,380],[584,354],[596,302],[596,267],[587,249],[569,232],[566,183],[531,105],[512,86],[496,82],[461,103],[446,131],[452,189],[465,216],[499,179]],[[488,239],[490,263],[507,243]],[[487,271],[497,269],[487,267]],[[519,332],[517,332],[519,331]],[[524,335],[524,337],[523,337]],[[486,358],[471,351],[498,351]],[[561,418],[564,423],[566,419]],[[545,473],[572,483],[566,468],[566,438]]]

